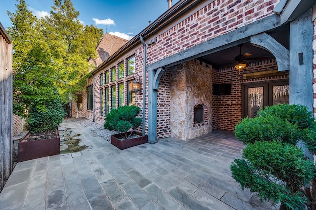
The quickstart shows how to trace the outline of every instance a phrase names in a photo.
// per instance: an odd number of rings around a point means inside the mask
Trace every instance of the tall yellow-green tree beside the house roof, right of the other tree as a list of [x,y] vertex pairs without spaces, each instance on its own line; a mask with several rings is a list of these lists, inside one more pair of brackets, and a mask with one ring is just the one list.
[[[83,26],[79,12],[71,0],[54,0],[50,15],[45,18],[45,37],[54,55],[58,69],[56,84],[65,101],[76,101],[76,94],[83,91],[86,76],[92,70],[88,59],[95,57],[95,47],[102,38],[103,30]],[[78,110],[76,108],[76,117]]]

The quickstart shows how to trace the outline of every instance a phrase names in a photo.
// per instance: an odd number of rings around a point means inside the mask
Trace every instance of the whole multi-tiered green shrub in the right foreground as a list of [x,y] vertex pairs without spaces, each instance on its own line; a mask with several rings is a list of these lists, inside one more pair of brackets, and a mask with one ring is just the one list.
[[235,136],[248,143],[244,159],[231,165],[233,178],[242,188],[258,192],[264,200],[281,201],[289,209],[315,208],[314,192],[303,188],[309,181],[315,188],[313,162],[296,146],[303,141],[316,154],[316,122],[307,107],[265,107],[257,117],[237,124]]

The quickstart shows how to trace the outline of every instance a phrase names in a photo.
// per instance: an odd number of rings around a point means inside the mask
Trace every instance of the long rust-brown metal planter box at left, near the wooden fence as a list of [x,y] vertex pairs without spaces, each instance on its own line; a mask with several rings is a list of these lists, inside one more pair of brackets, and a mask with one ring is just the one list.
[[18,162],[60,154],[58,129],[56,129],[56,138],[27,141],[30,135],[28,133],[19,141]]

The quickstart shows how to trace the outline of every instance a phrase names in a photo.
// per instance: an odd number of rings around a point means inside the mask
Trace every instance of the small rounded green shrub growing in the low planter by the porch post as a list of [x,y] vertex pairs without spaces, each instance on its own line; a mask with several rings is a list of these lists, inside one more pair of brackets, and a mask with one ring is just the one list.
[[132,129],[134,131],[142,124],[142,118],[137,117],[140,112],[138,106],[119,106],[112,109],[106,115],[104,128],[117,131],[122,138],[128,139],[127,132]]

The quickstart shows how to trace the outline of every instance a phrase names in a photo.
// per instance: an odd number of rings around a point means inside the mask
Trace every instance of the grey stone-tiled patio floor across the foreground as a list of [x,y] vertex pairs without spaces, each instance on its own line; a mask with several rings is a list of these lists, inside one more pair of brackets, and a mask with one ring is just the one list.
[[[158,140],[119,150],[79,123],[61,140],[79,150],[20,162],[0,194],[0,210],[273,210],[230,175],[244,147],[229,132]],[[63,144],[63,143],[61,143]]]

